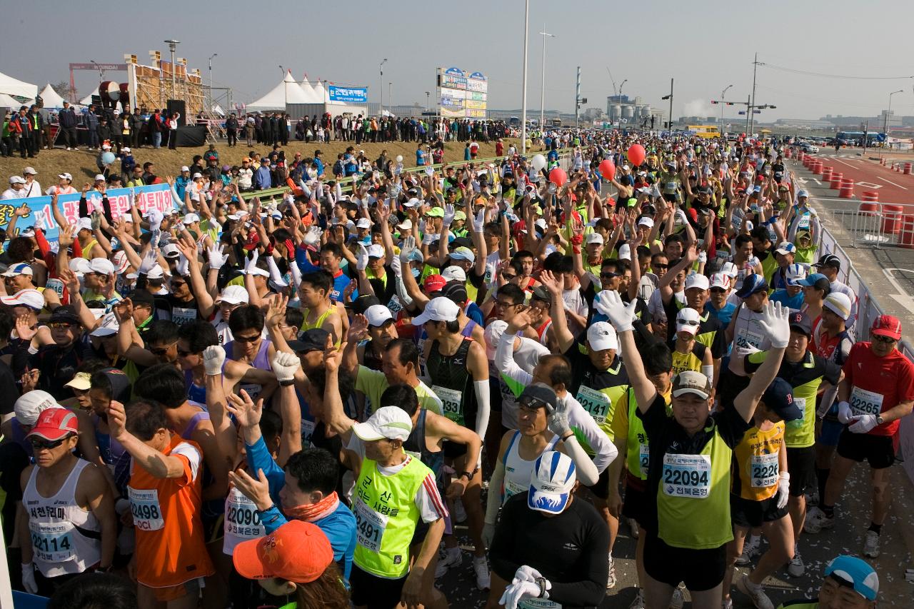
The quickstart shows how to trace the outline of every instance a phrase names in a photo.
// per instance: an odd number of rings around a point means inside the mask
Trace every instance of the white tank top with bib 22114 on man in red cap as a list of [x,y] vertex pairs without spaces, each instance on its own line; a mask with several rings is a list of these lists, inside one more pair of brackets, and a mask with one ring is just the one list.
[[45,577],[81,573],[101,561],[101,525],[90,510],[76,503],[76,486],[86,465],[88,461],[79,459],[54,497],[38,493],[37,465],[28,477],[22,503],[28,514],[33,561]]

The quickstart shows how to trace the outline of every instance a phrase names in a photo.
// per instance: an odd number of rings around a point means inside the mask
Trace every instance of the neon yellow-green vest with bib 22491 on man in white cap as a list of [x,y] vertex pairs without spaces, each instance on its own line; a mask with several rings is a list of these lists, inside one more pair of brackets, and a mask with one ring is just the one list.
[[359,569],[396,580],[409,572],[409,543],[419,522],[415,498],[431,470],[419,459],[394,475],[381,475],[377,463],[365,459],[356,483],[352,511],[356,515]]

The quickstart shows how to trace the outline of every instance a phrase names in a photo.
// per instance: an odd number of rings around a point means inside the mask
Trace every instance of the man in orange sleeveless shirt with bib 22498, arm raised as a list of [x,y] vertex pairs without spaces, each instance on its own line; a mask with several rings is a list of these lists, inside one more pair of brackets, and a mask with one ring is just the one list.
[[136,550],[128,566],[141,609],[196,609],[203,578],[212,575],[200,522],[203,454],[171,433],[165,409],[133,401],[108,409],[112,439],[133,457],[130,494]]

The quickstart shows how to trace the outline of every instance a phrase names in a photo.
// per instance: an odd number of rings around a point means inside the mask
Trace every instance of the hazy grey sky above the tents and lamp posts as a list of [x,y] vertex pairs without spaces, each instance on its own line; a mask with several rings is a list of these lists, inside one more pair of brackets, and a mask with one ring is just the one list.
[[[155,10],[154,10],[155,7]],[[279,65],[301,80],[367,85],[377,102],[378,63],[384,66],[384,102],[425,104],[434,95],[435,68],[456,66],[489,77],[489,107],[519,108],[524,43],[523,0],[461,2],[174,2],[112,5],[99,0],[33,0],[0,19],[0,71],[36,83],[69,80],[69,62],[141,63],[150,49],[174,37],[177,56],[199,68],[214,86],[251,102],[282,78]],[[752,86],[752,59],[828,75],[914,75],[909,37],[914,19],[908,0],[770,0],[765,3],[673,1],[555,3],[530,0],[527,107],[539,108],[544,22],[547,41],[546,108],[573,110],[576,67],[581,67],[585,107],[605,110],[612,94],[607,67],[622,92],[666,108],[661,97],[675,78],[674,114],[717,115],[719,98],[745,101]],[[872,24],[872,25],[867,25]],[[861,32],[856,29],[866,27]],[[893,34],[895,32],[895,34]],[[908,59],[908,63],[905,63]],[[126,81],[126,74],[109,73]],[[77,72],[80,97],[98,84],[93,72]],[[771,68],[758,71],[757,103],[773,103],[760,120],[818,118],[826,113],[877,115],[888,93],[896,114],[914,114],[914,79],[855,80],[814,77]],[[728,113],[736,114],[730,107]]]

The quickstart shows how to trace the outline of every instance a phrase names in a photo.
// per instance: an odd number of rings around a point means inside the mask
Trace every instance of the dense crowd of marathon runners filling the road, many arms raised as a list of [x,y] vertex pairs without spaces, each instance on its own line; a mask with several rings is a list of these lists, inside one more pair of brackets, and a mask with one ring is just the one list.
[[75,223],[63,174],[51,242],[5,196],[14,585],[438,608],[469,560],[490,609],[623,606],[622,526],[625,606],[736,588],[773,609],[763,582],[804,574],[866,462],[865,543],[784,606],[875,607],[914,366],[897,318],[862,327],[784,153],[568,132],[494,164],[370,167],[348,192],[302,173],[282,200],[199,172],[173,210],[117,217],[98,176]]

